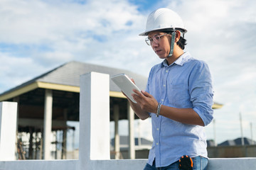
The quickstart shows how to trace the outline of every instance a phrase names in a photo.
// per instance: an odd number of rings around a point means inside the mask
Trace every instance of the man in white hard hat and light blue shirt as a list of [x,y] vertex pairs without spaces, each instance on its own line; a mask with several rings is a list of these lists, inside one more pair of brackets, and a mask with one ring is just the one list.
[[139,118],[151,117],[154,142],[144,169],[178,169],[183,155],[193,169],[207,169],[203,127],[213,119],[212,81],[207,64],[183,52],[186,31],[177,13],[159,8],[140,34],[164,60],[151,68],[146,91],[134,90],[137,103],[129,100]]

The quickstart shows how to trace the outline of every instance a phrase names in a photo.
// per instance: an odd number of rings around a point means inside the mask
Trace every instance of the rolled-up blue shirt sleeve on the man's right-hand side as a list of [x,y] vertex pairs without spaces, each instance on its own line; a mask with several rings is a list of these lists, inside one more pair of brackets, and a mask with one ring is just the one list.
[[189,77],[189,92],[193,110],[208,125],[213,120],[213,85],[208,65],[198,62]]

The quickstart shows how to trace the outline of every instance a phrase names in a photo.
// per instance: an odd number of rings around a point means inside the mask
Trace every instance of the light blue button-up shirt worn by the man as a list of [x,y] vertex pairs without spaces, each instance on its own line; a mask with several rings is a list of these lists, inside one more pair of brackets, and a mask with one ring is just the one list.
[[[193,108],[208,125],[213,120],[213,86],[208,65],[186,52],[173,64],[166,60],[152,67],[146,91],[164,106]],[[178,123],[149,113],[152,121],[153,145],[148,164],[168,166],[183,156],[207,157],[206,135],[199,125]]]

